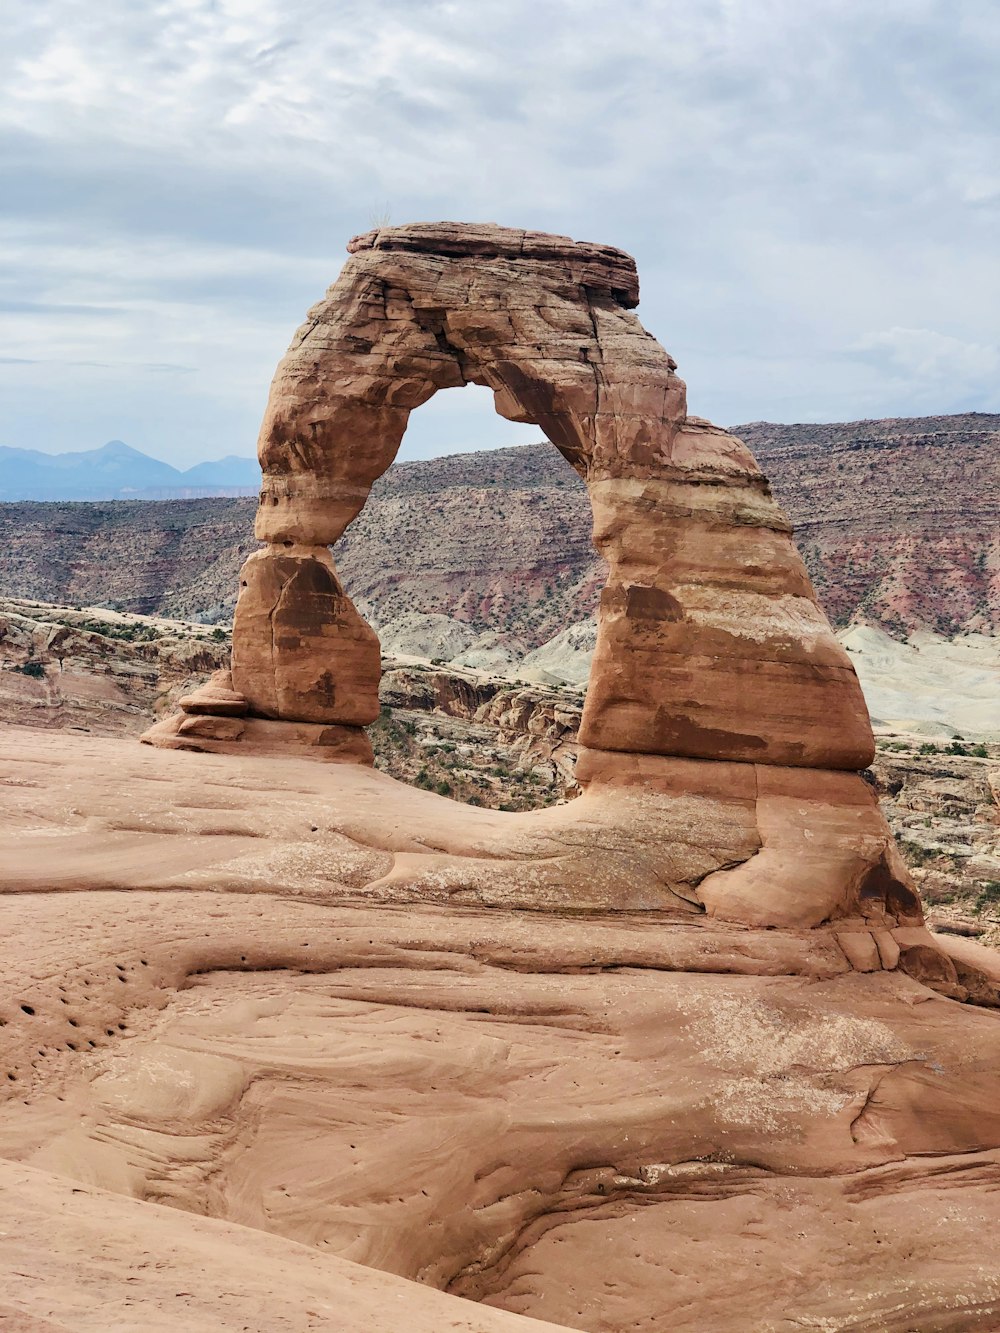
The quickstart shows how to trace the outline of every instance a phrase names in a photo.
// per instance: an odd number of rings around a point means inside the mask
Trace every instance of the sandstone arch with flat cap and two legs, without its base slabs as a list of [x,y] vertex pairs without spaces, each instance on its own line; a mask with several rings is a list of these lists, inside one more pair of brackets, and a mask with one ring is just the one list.
[[[475,383],[585,479],[611,573],[581,742],[597,752],[859,769],[868,716],[744,445],[687,415],[643,328],[633,260],[471,224],[381,228],[277,368],[233,684],[251,713],[324,728],[377,716],[379,645],[328,547],[392,463],[409,412]],[[355,733],[356,734],[356,733]],[[329,733],[359,753],[351,733]]]

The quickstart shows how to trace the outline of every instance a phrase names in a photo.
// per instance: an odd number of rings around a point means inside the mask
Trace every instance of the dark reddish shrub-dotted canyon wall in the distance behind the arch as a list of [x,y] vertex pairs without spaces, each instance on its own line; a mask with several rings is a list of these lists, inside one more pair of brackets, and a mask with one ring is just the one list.
[[[1000,632],[1000,415],[736,427],[837,625]],[[252,500],[0,505],[0,591],[228,619]],[[340,543],[385,623],[444,612],[528,647],[592,615],[604,571],[583,483],[547,444],[393,467]]]

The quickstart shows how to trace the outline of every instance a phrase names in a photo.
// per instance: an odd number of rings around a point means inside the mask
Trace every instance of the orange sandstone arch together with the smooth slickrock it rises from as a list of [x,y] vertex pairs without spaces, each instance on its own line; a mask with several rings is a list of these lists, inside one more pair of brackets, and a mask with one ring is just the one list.
[[[0,1313],[995,1328],[1000,968],[927,929],[752,455],[621,252],[349,248],[272,387],[232,669],[144,748],[0,736]],[[328,551],[456,376],[557,439],[608,560],[580,794],[524,813],[369,766]]]

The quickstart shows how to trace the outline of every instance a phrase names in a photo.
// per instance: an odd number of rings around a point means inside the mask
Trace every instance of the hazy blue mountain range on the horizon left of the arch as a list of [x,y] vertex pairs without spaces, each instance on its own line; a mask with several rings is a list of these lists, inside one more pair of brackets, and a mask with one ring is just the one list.
[[121,440],[77,453],[0,447],[0,500],[193,500],[259,488],[257,460],[233,453],[181,472]]

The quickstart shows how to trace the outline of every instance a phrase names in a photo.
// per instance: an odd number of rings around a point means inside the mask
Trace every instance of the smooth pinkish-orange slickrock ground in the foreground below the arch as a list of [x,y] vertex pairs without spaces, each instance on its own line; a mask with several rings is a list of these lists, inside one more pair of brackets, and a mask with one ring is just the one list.
[[671,908],[661,801],[9,728],[0,810],[7,1326],[1000,1322],[997,1010]]

